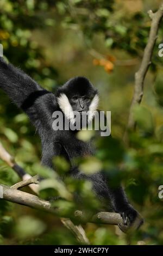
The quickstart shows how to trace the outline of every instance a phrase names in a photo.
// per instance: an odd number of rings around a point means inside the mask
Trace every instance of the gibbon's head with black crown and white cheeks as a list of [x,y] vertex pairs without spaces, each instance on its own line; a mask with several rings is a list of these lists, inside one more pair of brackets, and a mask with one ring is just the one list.
[[74,123],[74,111],[88,113],[90,122],[97,110],[99,97],[95,87],[85,77],[74,77],[57,90],[58,105],[70,122]]

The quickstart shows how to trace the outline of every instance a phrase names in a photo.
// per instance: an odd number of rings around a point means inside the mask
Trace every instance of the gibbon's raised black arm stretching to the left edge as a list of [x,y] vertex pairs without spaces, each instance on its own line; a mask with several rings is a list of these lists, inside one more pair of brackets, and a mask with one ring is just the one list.
[[0,57],[0,88],[27,113],[36,129],[52,127],[57,104],[54,94],[41,88],[31,77]]

